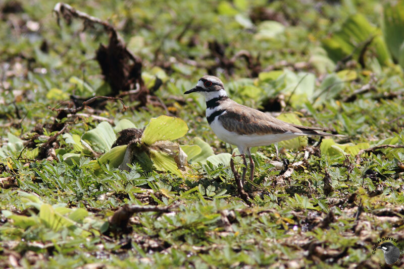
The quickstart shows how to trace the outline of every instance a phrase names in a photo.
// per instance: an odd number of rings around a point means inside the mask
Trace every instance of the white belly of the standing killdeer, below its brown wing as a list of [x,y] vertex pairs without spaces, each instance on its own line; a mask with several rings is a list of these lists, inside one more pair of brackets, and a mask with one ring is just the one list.
[[241,135],[226,130],[217,118],[212,121],[211,128],[220,140],[239,148],[268,146],[275,142],[293,139],[301,135],[294,132]]

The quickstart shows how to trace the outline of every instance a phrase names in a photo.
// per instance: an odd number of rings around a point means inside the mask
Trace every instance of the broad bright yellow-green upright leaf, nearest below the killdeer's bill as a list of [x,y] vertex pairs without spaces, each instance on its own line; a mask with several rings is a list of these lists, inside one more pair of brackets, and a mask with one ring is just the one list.
[[143,131],[141,141],[150,146],[156,141],[175,140],[188,131],[185,121],[177,117],[160,116],[150,119]]

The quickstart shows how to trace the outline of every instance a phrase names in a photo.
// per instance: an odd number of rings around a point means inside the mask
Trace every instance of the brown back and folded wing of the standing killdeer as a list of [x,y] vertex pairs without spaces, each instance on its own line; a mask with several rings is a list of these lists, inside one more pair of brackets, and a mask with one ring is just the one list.
[[[309,135],[326,135],[326,133],[316,131],[322,130],[322,128],[288,123],[257,109],[240,105],[230,99],[225,104],[222,104],[221,107],[225,108],[227,113],[219,116],[219,120],[228,131],[241,134],[269,134],[291,131]],[[332,134],[329,135],[332,136]]]

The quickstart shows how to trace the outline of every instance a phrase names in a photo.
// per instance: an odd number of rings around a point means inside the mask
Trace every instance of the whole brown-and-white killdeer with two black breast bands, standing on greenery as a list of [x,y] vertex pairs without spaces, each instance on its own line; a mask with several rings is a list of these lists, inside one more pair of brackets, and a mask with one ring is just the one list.
[[[250,179],[254,178],[255,164],[251,158],[251,147],[268,146],[299,136],[339,136],[321,131],[323,128],[288,123],[257,109],[240,105],[227,96],[222,81],[214,76],[200,78],[196,86],[184,94],[194,92],[205,96],[206,118],[216,136],[235,145],[243,158],[241,187],[246,174],[245,155],[250,161]],[[234,173],[234,163],[230,164]]]

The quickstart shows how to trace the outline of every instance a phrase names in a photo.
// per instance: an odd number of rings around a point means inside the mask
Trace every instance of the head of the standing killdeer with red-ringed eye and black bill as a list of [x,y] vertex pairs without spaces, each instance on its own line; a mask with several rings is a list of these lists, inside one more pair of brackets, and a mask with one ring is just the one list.
[[184,94],[189,93],[200,93],[201,95],[205,96],[206,100],[220,96],[227,96],[226,91],[224,90],[223,82],[214,76],[201,77],[195,87],[184,92]]

